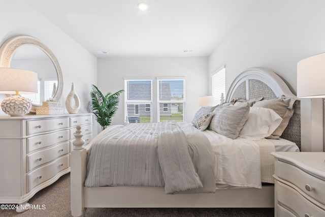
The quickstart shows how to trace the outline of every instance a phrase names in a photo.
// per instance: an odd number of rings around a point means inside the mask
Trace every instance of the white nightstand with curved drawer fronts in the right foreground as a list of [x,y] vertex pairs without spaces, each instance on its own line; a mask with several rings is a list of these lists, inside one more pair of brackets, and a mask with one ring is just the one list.
[[325,153],[273,152],[275,216],[325,216]]

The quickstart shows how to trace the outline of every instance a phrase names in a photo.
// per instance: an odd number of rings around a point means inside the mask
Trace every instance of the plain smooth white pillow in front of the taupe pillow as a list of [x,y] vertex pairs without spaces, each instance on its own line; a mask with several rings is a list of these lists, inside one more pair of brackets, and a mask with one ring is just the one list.
[[269,137],[279,127],[282,118],[272,109],[250,107],[248,119],[239,137],[259,140]]

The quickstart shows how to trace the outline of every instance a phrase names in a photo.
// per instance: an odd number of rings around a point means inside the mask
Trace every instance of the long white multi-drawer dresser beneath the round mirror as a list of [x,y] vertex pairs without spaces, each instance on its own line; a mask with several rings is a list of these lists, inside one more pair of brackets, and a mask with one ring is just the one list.
[[70,172],[76,126],[85,144],[92,138],[92,114],[0,116],[0,204],[26,203]]

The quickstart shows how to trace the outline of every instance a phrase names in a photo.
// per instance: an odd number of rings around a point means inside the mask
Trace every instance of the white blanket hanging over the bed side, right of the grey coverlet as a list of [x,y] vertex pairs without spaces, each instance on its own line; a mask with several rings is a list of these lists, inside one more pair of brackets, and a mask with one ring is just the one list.
[[[261,156],[258,142],[237,138],[229,139],[206,130],[215,155],[217,188],[262,188]],[[263,145],[274,145],[268,141]],[[273,164],[273,162],[272,162]]]

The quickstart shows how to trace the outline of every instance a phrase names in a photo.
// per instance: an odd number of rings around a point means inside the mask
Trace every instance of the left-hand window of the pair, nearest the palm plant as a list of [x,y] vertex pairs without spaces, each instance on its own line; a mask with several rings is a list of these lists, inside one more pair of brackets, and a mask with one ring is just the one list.
[[152,80],[124,79],[124,95],[130,123],[152,122]]

